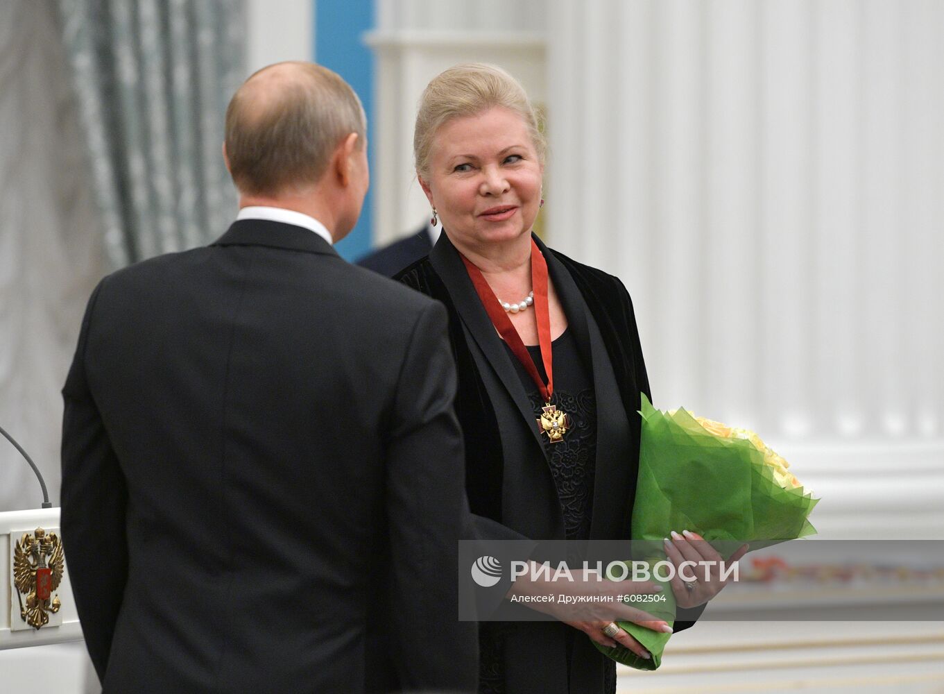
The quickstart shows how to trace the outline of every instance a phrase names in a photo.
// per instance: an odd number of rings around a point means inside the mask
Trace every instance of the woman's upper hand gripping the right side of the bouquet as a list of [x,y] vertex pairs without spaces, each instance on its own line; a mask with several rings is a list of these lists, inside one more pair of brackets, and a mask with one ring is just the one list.
[[[672,537],[666,537],[665,545],[666,556],[675,566],[675,575],[670,584],[679,607],[695,607],[710,601],[731,581],[730,577],[721,580],[720,563],[724,560],[700,535],[687,530],[682,534],[672,531]],[[748,546],[742,545],[728,557],[725,564],[735,564],[747,551]],[[691,562],[694,562],[694,565],[690,564]],[[700,565],[699,562],[708,564]],[[684,576],[680,575],[682,573]],[[685,578],[695,580],[686,581]]]

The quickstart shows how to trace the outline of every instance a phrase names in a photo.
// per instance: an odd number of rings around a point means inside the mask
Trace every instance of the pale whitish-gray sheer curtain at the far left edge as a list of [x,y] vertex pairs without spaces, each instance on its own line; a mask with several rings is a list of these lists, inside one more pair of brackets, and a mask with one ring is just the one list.
[[[57,506],[59,389],[107,269],[61,49],[51,2],[0,1],[0,426],[39,465]],[[40,501],[29,466],[0,437],[0,511]]]

